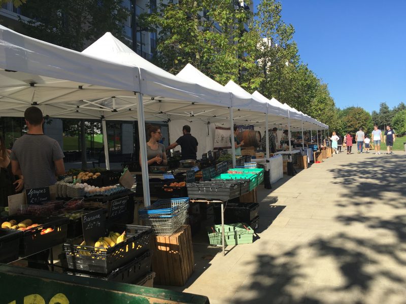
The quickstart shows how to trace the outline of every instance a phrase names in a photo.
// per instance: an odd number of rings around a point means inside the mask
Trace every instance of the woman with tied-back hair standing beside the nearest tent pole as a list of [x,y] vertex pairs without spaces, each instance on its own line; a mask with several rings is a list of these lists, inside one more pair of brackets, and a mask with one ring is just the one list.
[[[148,124],[146,126],[147,136],[147,160],[148,166],[166,166],[165,146],[158,141],[162,138],[162,133],[157,125]],[[141,164],[141,155],[140,155]]]

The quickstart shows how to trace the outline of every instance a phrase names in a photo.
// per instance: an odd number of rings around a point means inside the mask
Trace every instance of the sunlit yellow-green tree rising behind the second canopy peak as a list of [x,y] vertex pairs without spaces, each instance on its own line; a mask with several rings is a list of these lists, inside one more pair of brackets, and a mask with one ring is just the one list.
[[[176,74],[190,63],[223,85],[230,79],[242,84],[239,74],[255,66],[259,39],[255,31],[243,30],[252,16],[234,9],[231,1],[183,0],[159,2],[152,13],[140,16],[140,23],[158,30],[153,62],[163,69]],[[245,80],[250,87],[252,80]]]

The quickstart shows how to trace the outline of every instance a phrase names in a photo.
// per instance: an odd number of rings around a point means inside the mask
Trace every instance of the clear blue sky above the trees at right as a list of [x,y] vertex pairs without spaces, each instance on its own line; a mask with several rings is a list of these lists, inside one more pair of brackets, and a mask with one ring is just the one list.
[[[255,4],[259,0],[254,0]],[[282,0],[300,59],[328,84],[336,106],[406,103],[406,1]]]

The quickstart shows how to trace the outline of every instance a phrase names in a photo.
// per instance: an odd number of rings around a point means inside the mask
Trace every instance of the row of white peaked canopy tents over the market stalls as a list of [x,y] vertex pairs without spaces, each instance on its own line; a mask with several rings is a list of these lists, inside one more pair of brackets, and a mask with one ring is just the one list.
[[[289,131],[328,128],[233,81],[222,86],[190,64],[178,75],[168,73],[110,33],[79,53],[0,26],[0,67],[2,116],[21,117],[26,107],[36,105],[49,118],[100,119],[103,134],[106,120],[137,120],[142,164],[147,163],[145,121],[252,124],[265,130],[284,125]],[[105,152],[109,168],[107,146]],[[149,205],[147,178],[143,174]]]

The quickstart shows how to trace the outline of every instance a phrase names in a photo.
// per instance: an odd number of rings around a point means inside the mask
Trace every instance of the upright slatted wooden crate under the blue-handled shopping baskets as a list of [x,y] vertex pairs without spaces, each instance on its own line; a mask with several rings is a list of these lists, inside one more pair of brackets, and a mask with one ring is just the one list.
[[194,271],[192,235],[183,225],[172,236],[152,236],[154,284],[183,286]]

